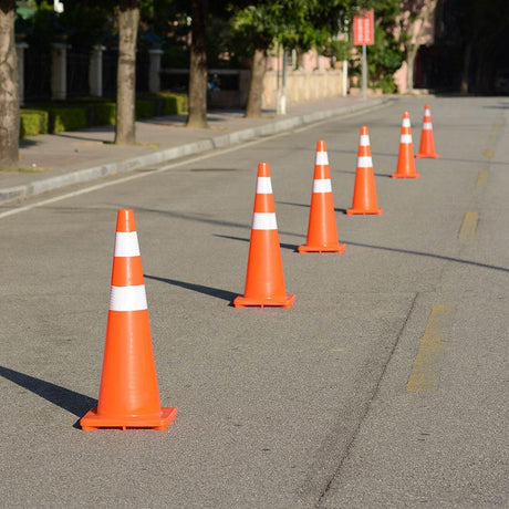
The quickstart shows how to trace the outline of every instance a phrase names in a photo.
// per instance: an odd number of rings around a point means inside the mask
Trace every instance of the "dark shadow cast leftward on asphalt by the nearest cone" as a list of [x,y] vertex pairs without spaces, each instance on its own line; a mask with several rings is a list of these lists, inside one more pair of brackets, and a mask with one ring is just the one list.
[[[9,367],[0,366],[0,375],[80,418],[91,408],[97,406],[97,399],[93,397],[25,375],[19,371],[9,370]],[[74,424],[74,427],[80,427],[79,422]]]

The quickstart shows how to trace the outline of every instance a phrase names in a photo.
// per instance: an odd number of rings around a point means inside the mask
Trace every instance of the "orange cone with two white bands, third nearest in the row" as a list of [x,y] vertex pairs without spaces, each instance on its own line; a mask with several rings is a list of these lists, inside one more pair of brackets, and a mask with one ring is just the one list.
[[298,251],[343,252],[345,249],[346,246],[337,241],[326,145],[323,139],[319,139],[316,142],[308,240],[304,246],[299,246]]

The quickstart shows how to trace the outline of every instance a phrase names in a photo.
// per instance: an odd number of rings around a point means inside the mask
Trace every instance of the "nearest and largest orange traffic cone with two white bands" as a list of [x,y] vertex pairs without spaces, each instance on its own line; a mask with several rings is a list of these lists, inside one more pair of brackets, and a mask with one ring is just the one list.
[[164,430],[176,416],[160,407],[134,212],[118,210],[98,404],[80,424]]

